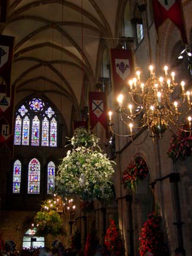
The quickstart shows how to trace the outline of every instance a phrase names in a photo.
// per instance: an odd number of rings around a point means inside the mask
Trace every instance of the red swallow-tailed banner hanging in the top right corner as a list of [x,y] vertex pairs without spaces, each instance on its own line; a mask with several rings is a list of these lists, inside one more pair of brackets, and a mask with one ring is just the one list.
[[155,27],[159,26],[168,18],[179,28],[183,43],[187,44],[181,0],[152,0]]

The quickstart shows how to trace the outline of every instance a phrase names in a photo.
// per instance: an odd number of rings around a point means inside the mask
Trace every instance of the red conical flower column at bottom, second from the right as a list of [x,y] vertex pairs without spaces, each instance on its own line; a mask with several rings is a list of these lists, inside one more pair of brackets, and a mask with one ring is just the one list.
[[110,223],[105,235],[105,245],[108,251],[113,252],[114,256],[123,256],[124,246],[120,230],[117,229],[113,219],[110,220]]

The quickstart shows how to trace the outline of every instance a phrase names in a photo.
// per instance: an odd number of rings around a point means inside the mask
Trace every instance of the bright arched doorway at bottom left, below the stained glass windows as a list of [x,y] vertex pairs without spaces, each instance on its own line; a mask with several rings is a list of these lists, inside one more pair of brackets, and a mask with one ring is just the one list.
[[36,228],[28,229],[23,236],[23,248],[44,247],[44,237],[35,236]]

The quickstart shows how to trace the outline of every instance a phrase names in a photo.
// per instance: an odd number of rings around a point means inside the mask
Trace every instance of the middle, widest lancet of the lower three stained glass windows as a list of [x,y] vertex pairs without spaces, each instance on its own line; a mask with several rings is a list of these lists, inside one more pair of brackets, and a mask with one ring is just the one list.
[[40,163],[33,158],[28,164],[28,194],[40,192]]

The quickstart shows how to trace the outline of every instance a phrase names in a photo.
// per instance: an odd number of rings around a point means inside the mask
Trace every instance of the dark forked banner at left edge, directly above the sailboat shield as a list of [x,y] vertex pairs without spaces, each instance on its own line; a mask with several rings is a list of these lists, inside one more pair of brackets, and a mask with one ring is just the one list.
[[14,37],[0,35],[0,76],[7,85],[6,95],[11,95],[11,65],[14,52]]

